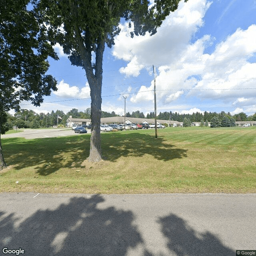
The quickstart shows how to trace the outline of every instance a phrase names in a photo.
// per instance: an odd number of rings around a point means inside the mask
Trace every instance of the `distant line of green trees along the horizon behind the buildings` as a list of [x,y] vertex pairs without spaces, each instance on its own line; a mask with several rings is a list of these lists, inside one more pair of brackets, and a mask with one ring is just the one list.
[[[62,110],[56,110],[52,112],[44,114],[36,114],[33,110],[27,110],[27,109],[21,109],[20,111],[16,112],[14,116],[6,113],[6,126],[9,129],[12,129],[13,127],[17,128],[42,128],[42,127],[52,127],[59,125],[66,125],[66,120],[69,118],[69,116],[72,116],[72,118],[86,118],[90,119],[91,115],[91,109],[86,108],[84,112],[78,111],[78,109],[73,108],[66,114]],[[57,122],[57,117],[60,116],[60,119]],[[112,116],[119,116],[114,111],[106,112],[102,111],[101,117],[112,117]],[[140,112],[139,110],[126,113],[126,117],[133,117],[133,118],[154,118],[154,112],[148,113],[146,116],[143,112]],[[216,127],[218,126],[231,126],[234,124],[234,121],[255,121],[256,120],[256,113],[252,116],[247,116],[245,113],[241,112],[239,114],[231,115],[230,112],[226,113],[224,111],[220,113],[216,112],[204,112],[204,113],[193,113],[193,114],[179,114],[177,112],[172,113],[170,112],[160,112],[157,116],[157,119],[160,120],[174,120],[178,122],[184,122],[188,126],[191,125],[191,122],[211,122],[212,120],[214,123],[216,123]],[[234,120],[234,121],[233,121]]]

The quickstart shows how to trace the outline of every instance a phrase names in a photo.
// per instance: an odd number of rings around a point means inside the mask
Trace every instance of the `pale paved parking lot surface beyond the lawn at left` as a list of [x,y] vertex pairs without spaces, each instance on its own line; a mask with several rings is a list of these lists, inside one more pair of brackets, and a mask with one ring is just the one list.
[[[86,129],[87,133],[90,133],[90,129]],[[61,137],[70,135],[83,135],[75,133],[71,128],[52,128],[52,129],[26,129],[23,132],[15,132],[12,134],[1,135],[1,138],[14,138],[14,137],[24,137],[26,139],[35,138],[51,138],[51,137]]]

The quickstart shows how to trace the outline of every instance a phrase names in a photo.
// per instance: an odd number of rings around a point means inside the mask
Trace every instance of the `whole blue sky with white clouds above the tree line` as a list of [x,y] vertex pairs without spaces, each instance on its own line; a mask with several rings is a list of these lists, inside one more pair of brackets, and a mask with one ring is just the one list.
[[[115,45],[103,58],[102,110],[124,114],[154,111],[156,67],[157,113],[256,112],[256,0],[189,0],[181,2],[154,36],[130,38],[121,24]],[[71,66],[60,46],[60,60],[49,59],[49,74],[58,91],[37,113],[90,107],[84,70]]]

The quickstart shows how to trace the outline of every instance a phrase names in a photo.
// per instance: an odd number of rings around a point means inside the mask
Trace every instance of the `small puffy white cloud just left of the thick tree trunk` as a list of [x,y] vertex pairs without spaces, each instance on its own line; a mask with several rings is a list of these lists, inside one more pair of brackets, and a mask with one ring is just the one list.
[[65,83],[64,80],[61,80],[57,84],[58,90],[53,92],[56,96],[60,98],[90,98],[90,87],[88,82],[86,82],[86,86],[79,89],[78,86],[70,86]]

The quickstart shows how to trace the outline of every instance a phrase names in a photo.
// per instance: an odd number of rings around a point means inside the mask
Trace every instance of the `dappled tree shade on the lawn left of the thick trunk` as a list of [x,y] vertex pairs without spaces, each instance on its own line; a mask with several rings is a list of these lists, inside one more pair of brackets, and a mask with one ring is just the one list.
[[7,165],[16,170],[34,167],[40,175],[48,175],[60,168],[81,168],[82,161],[89,156],[90,136],[68,136],[2,140]]

